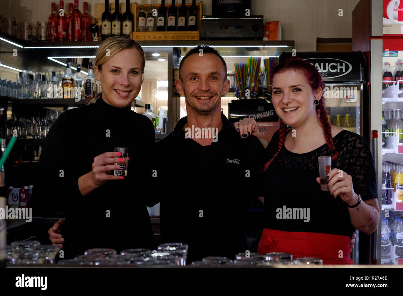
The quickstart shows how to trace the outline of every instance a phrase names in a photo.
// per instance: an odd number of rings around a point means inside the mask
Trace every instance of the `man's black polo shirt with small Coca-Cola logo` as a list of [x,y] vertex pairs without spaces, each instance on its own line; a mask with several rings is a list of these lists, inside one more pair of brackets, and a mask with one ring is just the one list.
[[265,149],[259,139],[241,138],[221,115],[216,142],[202,146],[185,138],[181,118],[156,143],[162,242],[189,244],[188,262],[247,250],[245,216],[251,199],[262,196]]

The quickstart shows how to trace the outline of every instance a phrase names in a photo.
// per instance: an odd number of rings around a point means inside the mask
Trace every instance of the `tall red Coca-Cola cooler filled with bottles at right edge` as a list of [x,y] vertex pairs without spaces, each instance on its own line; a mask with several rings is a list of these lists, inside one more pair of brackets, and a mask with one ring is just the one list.
[[399,64],[403,62],[403,1],[360,0],[353,10],[352,36],[353,50],[364,52],[368,61],[369,137],[381,212],[378,230],[366,240],[365,234],[360,235],[359,256],[361,259],[367,251],[369,263],[401,265],[403,231],[394,233],[391,226],[403,218],[403,172],[399,174],[397,166],[403,165],[403,122],[399,111],[403,110],[403,77],[399,75]]

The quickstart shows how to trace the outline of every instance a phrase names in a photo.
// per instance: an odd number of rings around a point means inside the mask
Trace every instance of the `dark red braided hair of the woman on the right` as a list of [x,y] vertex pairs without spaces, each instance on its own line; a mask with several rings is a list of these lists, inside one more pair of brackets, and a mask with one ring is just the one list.
[[[287,58],[286,60],[283,60],[280,64],[278,64],[276,68],[274,68],[273,76],[279,72],[283,72],[286,70],[300,70],[303,73],[303,75],[305,75],[305,78],[307,79],[308,83],[310,84],[313,90],[316,90],[318,88],[321,88],[322,90],[324,89],[324,83],[322,81],[322,77],[318,72],[318,69],[316,69],[316,67],[311,63],[304,61],[299,57]],[[327,118],[327,113],[324,108],[323,92],[322,97],[319,99],[319,104],[318,106],[316,106],[316,113],[318,114],[318,119],[323,129],[323,135],[326,139],[326,144],[332,151],[335,151],[336,148],[334,147],[332,138],[332,127],[330,126],[330,123]],[[272,159],[270,159],[264,165],[263,172],[267,170],[267,168],[272,163],[274,157],[278,155],[278,153],[284,146],[285,132],[287,130],[287,125],[283,122],[283,120],[281,120],[281,118],[279,118],[279,121],[280,121],[280,127],[278,129],[278,148]],[[338,156],[339,153],[335,151],[334,154],[332,155],[332,161],[337,159]]]

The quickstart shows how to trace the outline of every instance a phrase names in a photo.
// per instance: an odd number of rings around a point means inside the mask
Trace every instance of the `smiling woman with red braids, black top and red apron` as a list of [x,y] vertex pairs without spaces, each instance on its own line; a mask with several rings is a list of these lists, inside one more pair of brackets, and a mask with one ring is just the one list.
[[[329,124],[323,87],[318,70],[300,58],[284,60],[274,70],[272,101],[280,128],[267,147],[258,253],[352,264],[351,234],[355,229],[371,234],[378,226],[375,169],[361,136]],[[257,135],[255,123],[244,119],[235,128],[241,135]],[[332,156],[326,177],[330,193],[319,185],[318,157],[324,155]]]

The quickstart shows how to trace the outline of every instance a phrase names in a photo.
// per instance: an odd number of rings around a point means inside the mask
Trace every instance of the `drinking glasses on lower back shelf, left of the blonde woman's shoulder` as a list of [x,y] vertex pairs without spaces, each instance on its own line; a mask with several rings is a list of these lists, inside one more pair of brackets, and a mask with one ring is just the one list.
[[49,109],[46,111],[46,118],[25,118],[11,114],[11,118],[7,120],[7,138],[17,135],[20,139],[45,139],[53,122],[61,113],[62,111]]

